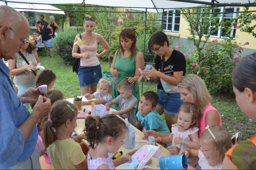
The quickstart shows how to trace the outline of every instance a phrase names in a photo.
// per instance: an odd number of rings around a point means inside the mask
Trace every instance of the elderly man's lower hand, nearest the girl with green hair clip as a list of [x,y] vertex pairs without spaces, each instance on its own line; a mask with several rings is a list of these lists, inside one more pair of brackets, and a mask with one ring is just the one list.
[[51,106],[52,106],[51,99],[48,99],[48,98],[40,95],[37,103],[35,104],[35,106],[33,108],[32,114],[36,115],[39,119],[50,112]]

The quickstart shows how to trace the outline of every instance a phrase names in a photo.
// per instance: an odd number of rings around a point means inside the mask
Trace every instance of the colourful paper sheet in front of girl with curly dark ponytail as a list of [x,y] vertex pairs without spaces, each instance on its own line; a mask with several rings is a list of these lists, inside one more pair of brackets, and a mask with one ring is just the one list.
[[128,169],[134,169],[136,166],[138,166],[138,169],[142,169],[144,165],[147,163],[147,161],[153,156],[153,154],[158,150],[159,147],[153,146],[153,145],[144,145],[141,147],[137,152],[135,152],[131,159],[132,162],[127,162],[125,164],[120,165],[120,167],[128,168]]

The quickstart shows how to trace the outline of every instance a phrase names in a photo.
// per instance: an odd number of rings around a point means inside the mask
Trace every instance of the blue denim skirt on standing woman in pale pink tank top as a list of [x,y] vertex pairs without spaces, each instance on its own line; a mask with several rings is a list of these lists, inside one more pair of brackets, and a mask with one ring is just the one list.
[[101,66],[81,66],[78,69],[78,80],[80,87],[90,86],[92,84],[98,84],[102,78]]

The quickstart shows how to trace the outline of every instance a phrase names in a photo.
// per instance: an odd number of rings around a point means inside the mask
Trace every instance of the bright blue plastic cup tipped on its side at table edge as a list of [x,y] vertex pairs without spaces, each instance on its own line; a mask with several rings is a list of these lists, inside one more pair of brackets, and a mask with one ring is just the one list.
[[185,155],[172,155],[172,156],[163,156],[159,160],[160,169],[183,169],[182,165],[188,165],[188,160],[185,158]]

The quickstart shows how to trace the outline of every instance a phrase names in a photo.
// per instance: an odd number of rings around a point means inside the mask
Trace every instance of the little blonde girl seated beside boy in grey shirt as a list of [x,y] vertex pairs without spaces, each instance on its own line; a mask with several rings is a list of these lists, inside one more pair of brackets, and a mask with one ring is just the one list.
[[[95,104],[105,104],[112,100],[111,97],[111,81],[108,78],[101,78],[99,81],[99,89],[93,95],[85,94],[87,100],[96,99]],[[90,105],[91,101],[82,101],[82,105]]]

